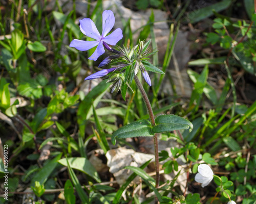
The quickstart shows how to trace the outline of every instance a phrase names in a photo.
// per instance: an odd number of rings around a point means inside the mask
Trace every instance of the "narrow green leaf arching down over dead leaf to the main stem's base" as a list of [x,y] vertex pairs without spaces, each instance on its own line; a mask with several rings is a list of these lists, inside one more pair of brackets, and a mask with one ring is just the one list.
[[155,192],[155,195],[157,196],[158,200],[160,202],[162,202],[162,196],[161,194],[157,191],[157,189],[154,187],[155,186],[155,180],[148,175],[145,171],[143,171],[142,169],[138,168],[138,167],[134,167],[134,166],[126,166],[125,169],[130,169],[133,172],[135,172],[137,175],[139,175],[143,181],[147,184],[147,186],[149,186],[150,188],[153,189],[153,191]]

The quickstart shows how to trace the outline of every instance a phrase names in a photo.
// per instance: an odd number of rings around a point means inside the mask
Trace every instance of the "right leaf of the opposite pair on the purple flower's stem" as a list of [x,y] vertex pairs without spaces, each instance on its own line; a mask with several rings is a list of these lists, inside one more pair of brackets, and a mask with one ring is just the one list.
[[156,117],[155,122],[156,126],[152,129],[154,133],[193,129],[190,121],[177,115],[160,115]]

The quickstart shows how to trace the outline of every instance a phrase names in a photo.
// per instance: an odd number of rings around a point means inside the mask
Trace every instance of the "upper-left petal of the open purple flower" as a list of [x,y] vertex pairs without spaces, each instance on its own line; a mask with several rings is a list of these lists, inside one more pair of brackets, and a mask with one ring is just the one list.
[[87,35],[95,40],[100,40],[101,36],[98,29],[96,28],[95,23],[90,18],[83,18],[79,20],[80,30],[84,35]]

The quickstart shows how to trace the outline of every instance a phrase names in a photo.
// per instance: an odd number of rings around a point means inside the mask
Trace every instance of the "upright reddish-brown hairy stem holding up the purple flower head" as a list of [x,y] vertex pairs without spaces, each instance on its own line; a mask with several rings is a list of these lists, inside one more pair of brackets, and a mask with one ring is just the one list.
[[[145,90],[143,89],[143,86],[141,85],[137,75],[134,76],[134,81],[136,82],[136,85],[138,89],[140,90],[140,93],[142,95],[142,98],[144,100],[144,103],[146,105],[146,109],[148,112],[148,115],[150,116],[151,125],[155,126],[155,117],[154,113],[150,104],[150,100],[148,99]],[[159,187],[159,181],[160,181],[160,175],[159,175],[159,155],[158,155],[158,140],[157,140],[157,134],[154,135],[154,147],[155,147],[155,160],[156,160],[156,188]]]

